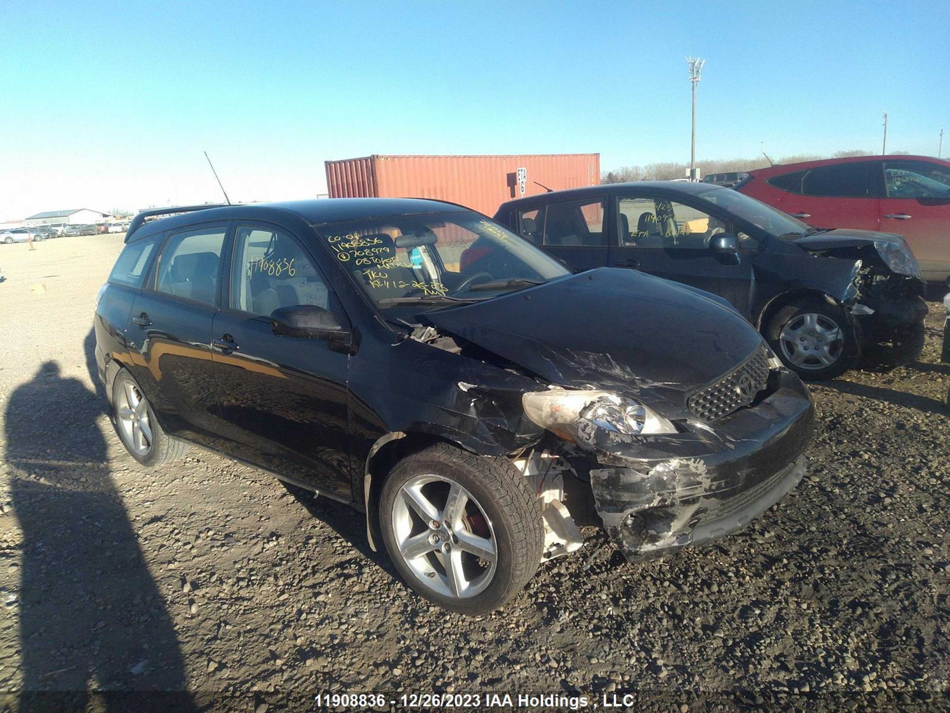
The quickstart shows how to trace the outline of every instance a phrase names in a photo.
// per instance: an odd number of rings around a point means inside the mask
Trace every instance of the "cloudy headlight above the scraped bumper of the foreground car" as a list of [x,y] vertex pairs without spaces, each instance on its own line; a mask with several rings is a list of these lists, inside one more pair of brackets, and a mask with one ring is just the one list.
[[575,442],[597,429],[623,435],[675,434],[675,426],[648,406],[607,391],[528,392],[524,414],[542,428]]

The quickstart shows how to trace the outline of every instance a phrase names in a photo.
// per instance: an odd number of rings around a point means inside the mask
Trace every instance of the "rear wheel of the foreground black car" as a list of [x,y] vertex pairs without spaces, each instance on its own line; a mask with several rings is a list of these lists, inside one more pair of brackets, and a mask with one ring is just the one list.
[[112,382],[112,423],[129,455],[146,468],[180,460],[187,447],[161,429],[139,384],[125,369]]

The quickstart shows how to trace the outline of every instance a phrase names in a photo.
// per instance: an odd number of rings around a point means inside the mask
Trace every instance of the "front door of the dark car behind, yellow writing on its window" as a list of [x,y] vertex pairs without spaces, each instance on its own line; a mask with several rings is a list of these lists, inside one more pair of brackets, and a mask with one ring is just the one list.
[[740,234],[737,252],[716,252],[712,238],[734,235],[731,222],[687,200],[652,192],[619,196],[610,264],[712,292],[749,317],[757,241]]

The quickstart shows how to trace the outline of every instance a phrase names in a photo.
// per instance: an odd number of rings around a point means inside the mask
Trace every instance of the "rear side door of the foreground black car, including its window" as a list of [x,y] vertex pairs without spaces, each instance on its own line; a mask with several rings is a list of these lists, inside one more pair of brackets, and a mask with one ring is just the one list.
[[169,434],[215,446],[211,325],[227,225],[172,232],[126,326],[130,369]]

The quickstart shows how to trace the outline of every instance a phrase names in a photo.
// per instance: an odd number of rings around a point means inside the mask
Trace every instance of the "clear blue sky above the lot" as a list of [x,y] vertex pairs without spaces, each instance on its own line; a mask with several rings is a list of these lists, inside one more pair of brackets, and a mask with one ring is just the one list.
[[[0,4],[0,220],[312,197],[371,153],[936,154],[940,2]],[[946,142],[950,152],[950,138]]]

